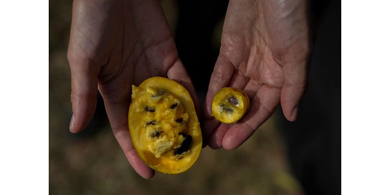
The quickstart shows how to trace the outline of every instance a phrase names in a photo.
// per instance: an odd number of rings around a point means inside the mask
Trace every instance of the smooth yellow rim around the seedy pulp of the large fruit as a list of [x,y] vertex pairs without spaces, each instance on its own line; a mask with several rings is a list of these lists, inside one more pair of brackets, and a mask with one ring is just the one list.
[[[181,105],[184,109],[184,112],[188,114],[186,135],[190,135],[192,137],[192,144],[190,150],[187,151],[185,156],[180,156],[180,159],[173,159],[172,156],[174,156],[174,149],[172,149],[172,151],[166,152],[165,155],[163,154],[159,158],[157,158],[152,152],[145,150],[144,146],[151,144],[148,143],[147,139],[143,138],[145,137],[145,135],[142,135],[142,133],[145,133],[144,129],[146,129],[146,126],[144,126],[145,114],[144,112],[140,112],[139,109],[137,110],[137,105],[135,105],[135,102],[137,102],[137,98],[139,98],[138,94],[142,90],[146,90],[148,87],[154,87],[155,89],[164,90],[167,93],[178,98],[181,101]],[[179,174],[190,169],[199,157],[200,151],[202,149],[202,133],[195,112],[194,102],[188,91],[176,81],[162,77],[148,78],[143,81],[138,87],[133,85],[132,88],[132,103],[130,104],[128,117],[129,130],[133,145],[139,157],[150,168],[164,174]],[[155,111],[153,111],[153,113],[155,113]],[[151,124],[153,123],[153,121],[148,121],[146,123]],[[142,147],[143,149],[141,149]]]

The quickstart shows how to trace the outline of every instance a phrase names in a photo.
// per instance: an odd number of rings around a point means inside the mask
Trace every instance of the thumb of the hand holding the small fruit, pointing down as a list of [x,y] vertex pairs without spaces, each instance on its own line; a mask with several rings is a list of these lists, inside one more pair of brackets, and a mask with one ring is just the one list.
[[307,65],[289,63],[283,66],[284,83],[280,103],[284,116],[295,121],[298,116],[298,104],[307,86]]

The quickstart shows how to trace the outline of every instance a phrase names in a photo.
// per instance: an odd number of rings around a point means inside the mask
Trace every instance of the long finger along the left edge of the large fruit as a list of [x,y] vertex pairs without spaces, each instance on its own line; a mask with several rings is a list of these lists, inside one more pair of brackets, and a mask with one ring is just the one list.
[[[123,90],[116,90],[116,93],[109,93],[116,87]],[[150,169],[140,159],[130,137],[127,118],[131,101],[130,89],[130,85],[126,86],[115,81],[107,85],[99,85],[99,90],[104,99],[107,116],[115,138],[117,138],[123,153],[134,170],[143,178],[149,179],[154,176],[155,171]]]

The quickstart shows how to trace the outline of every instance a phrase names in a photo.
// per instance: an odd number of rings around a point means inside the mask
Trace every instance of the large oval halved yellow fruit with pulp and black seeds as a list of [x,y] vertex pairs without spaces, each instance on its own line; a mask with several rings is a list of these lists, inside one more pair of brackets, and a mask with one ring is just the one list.
[[188,91],[162,77],[148,78],[132,89],[129,129],[138,155],[164,174],[187,171],[202,149],[202,133]]

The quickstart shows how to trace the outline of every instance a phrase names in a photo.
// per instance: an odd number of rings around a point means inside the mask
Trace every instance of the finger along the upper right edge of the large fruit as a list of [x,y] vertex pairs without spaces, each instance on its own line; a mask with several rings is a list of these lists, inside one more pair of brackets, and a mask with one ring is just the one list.
[[192,84],[191,78],[188,76],[186,69],[179,59],[176,60],[175,63],[168,69],[167,77],[180,83],[188,90],[191,98],[194,101],[196,114],[198,118],[201,119],[202,107],[200,106],[194,85]]

